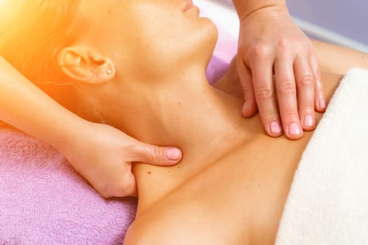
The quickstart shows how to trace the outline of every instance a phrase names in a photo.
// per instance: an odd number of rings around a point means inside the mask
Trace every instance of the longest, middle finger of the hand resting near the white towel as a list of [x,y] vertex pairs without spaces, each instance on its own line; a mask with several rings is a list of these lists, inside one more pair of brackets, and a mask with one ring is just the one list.
[[275,61],[275,87],[285,135],[288,139],[300,139],[303,137],[303,130],[297,107],[293,59],[290,59],[286,53],[280,55]]

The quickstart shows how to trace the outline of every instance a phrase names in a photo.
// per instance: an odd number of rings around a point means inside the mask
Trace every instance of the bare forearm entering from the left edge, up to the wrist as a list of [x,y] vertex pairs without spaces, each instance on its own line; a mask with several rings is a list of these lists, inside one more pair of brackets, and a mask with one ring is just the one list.
[[57,104],[0,57],[0,120],[62,150],[86,121]]

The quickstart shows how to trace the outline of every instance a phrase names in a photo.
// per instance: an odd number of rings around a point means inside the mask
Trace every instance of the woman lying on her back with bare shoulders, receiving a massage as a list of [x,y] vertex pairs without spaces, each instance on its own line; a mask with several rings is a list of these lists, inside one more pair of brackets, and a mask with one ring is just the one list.
[[[107,1],[69,2],[69,12],[46,13],[62,28],[45,23],[36,30],[43,38],[33,42],[9,33],[0,50],[81,116],[149,144],[182,149],[184,158],[175,167],[135,164],[139,204],[125,244],[273,244],[312,133],[299,141],[267,137],[259,116],[240,116],[243,101],[236,93],[208,85],[205,69],[217,30],[196,8],[183,12],[172,0],[119,1],[114,8]],[[27,17],[20,30],[29,31],[29,23],[45,15],[41,8],[18,11]],[[28,49],[20,52],[15,43]],[[367,62],[367,55],[315,45],[341,55],[320,55],[322,68],[330,71],[330,61],[339,62],[336,73]],[[41,69],[25,69],[24,60]],[[218,87],[233,83],[233,69]],[[323,74],[328,99],[340,79]]]

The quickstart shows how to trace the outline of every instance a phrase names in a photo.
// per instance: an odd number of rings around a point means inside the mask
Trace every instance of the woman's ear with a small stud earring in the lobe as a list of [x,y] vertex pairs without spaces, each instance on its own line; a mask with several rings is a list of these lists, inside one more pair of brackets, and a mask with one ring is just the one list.
[[79,46],[63,48],[57,62],[65,76],[82,83],[106,83],[116,75],[111,59],[100,55],[92,48]]

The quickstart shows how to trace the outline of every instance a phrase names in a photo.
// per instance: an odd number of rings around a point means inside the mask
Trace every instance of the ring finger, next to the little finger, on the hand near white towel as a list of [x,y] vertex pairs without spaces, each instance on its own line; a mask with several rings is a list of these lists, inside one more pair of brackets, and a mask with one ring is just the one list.
[[303,130],[315,129],[314,116],[314,76],[309,66],[309,60],[297,57],[294,62],[294,75],[297,83],[298,110]]

